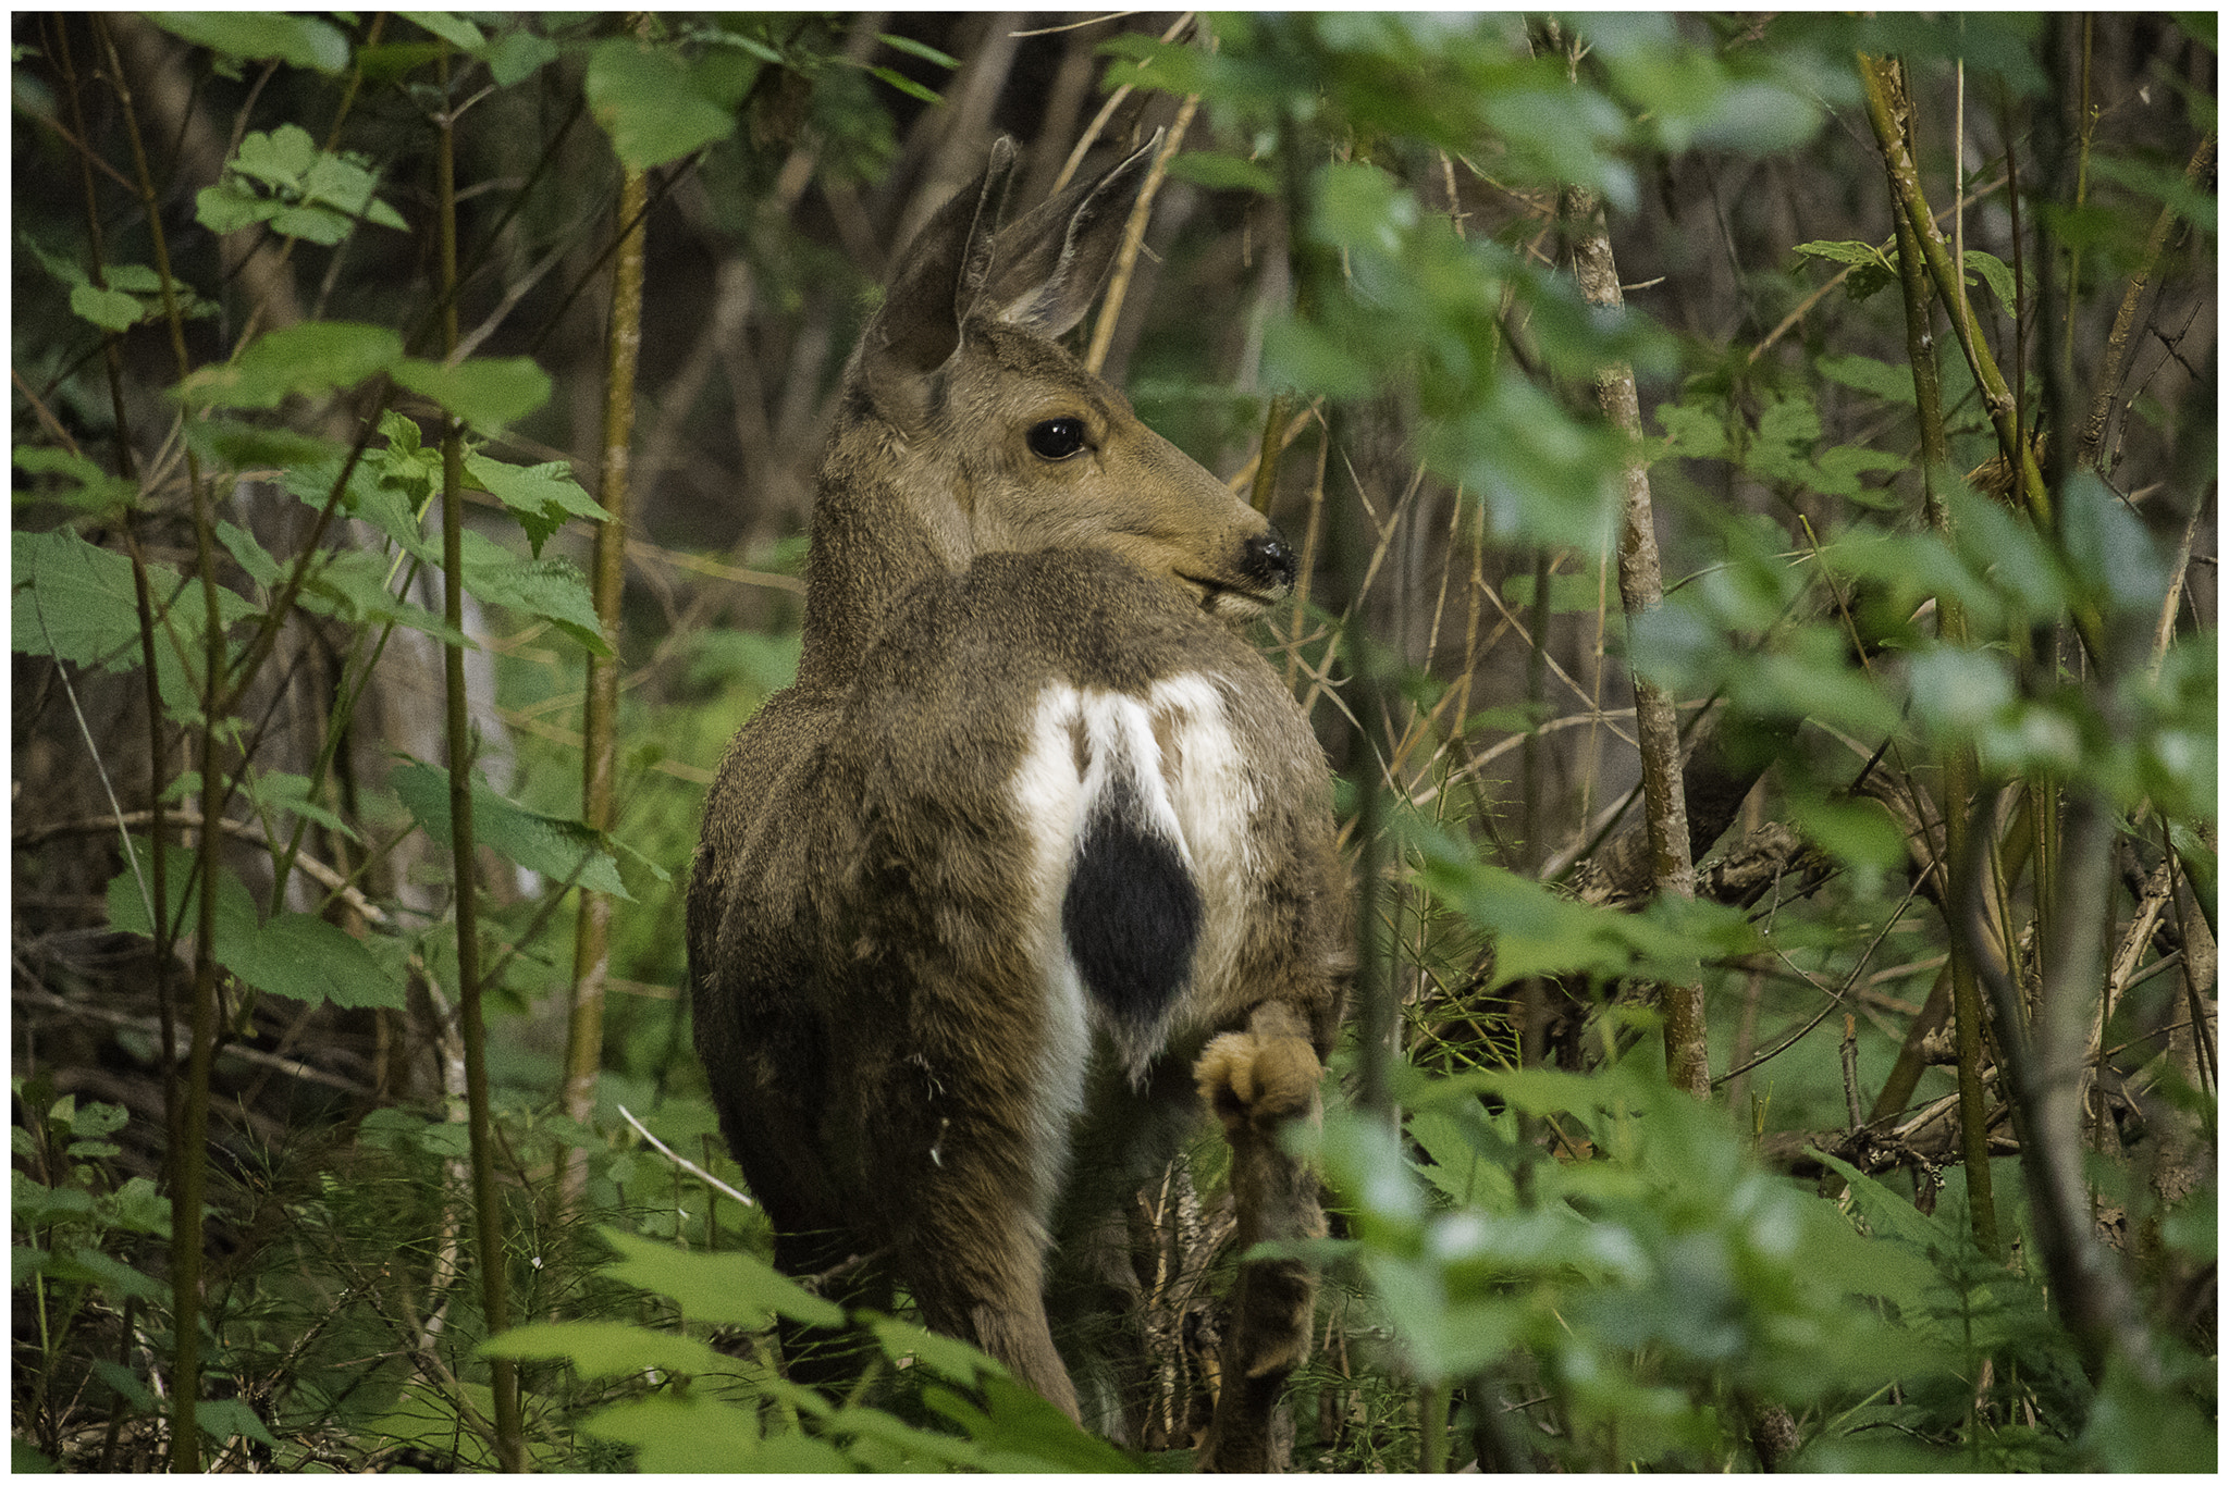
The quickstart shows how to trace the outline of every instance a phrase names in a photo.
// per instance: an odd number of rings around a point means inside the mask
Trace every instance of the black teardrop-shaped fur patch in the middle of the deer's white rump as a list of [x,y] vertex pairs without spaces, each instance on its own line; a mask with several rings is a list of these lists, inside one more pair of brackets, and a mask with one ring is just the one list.
[[1099,1009],[1148,1031],[1193,973],[1201,902],[1177,848],[1139,828],[1137,813],[1121,777],[1092,806],[1061,935]]

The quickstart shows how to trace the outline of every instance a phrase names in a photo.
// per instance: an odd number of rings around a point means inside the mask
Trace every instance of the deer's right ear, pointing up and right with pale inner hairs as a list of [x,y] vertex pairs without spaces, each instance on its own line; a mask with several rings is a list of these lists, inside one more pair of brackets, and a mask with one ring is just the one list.
[[1143,149],[1108,174],[1070,185],[1005,227],[972,312],[1048,338],[1068,334],[1114,267],[1130,207],[1159,145],[1161,131],[1155,129]]

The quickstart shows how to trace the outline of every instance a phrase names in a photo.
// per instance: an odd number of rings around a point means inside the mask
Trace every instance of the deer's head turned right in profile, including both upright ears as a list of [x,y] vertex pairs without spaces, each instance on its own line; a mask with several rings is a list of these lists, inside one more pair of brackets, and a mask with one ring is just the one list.
[[1057,343],[1097,298],[1152,145],[1005,227],[1014,147],[914,238],[851,365],[854,434],[947,568],[1099,548],[1244,623],[1295,559],[1253,508]]

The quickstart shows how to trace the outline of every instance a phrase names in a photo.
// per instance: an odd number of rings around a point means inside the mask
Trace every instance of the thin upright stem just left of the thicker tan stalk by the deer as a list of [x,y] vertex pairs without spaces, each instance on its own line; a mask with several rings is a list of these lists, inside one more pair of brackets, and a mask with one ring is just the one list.
[[[441,45],[439,203],[441,203],[441,350],[457,347],[457,116],[448,100],[448,42]],[[473,871],[473,737],[464,690],[464,427],[446,419],[441,434],[441,643],[448,701],[448,830],[457,911],[457,991],[464,1033],[464,1102],[473,1147],[473,1218],[479,1247],[479,1294],[488,1334],[510,1329],[508,1265],[504,1262],[504,1207],[495,1184],[495,1129],[488,1115],[488,1029],[481,1013],[479,897]],[[524,1467],[517,1363],[493,1358],[495,1458],[506,1472]]]

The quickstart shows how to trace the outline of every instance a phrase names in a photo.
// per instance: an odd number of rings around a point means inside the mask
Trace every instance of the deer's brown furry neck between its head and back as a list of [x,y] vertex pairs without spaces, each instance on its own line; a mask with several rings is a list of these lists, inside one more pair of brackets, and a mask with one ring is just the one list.
[[805,688],[847,686],[892,606],[921,581],[963,570],[970,557],[952,472],[905,461],[885,439],[865,459],[843,456],[858,452],[831,452],[814,496],[798,657]]

